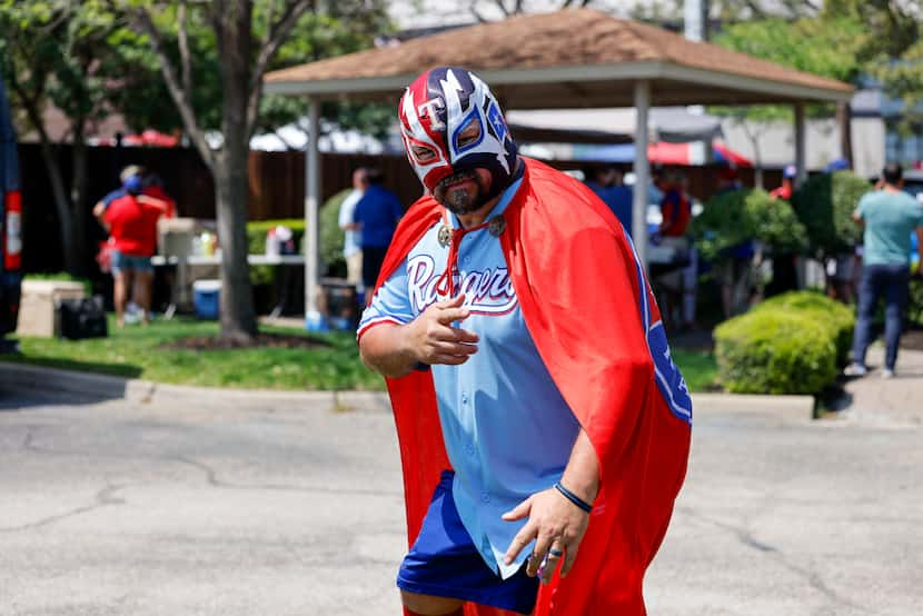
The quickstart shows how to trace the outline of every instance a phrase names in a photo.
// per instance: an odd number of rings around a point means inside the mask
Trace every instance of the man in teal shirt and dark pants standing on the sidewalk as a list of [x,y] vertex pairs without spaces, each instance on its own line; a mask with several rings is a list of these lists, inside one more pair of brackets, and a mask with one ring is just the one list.
[[871,341],[872,317],[884,297],[885,361],[883,378],[894,376],[901,326],[910,292],[911,234],[916,231],[923,248],[923,205],[902,190],[901,166],[890,162],[882,171],[881,190],[865,193],[853,219],[865,225],[863,270],[859,289],[859,311],[853,337],[853,364],[847,376],[867,372],[865,351]]

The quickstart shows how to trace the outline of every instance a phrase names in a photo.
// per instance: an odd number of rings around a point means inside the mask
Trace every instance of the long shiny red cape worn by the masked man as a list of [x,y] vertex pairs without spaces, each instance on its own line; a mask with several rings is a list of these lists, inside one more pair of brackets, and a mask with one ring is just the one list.
[[[524,159],[523,185],[500,236],[519,306],[538,352],[599,458],[587,533],[566,578],[543,585],[535,616],[645,614],[644,573],[666,533],[683,484],[691,425],[655,384],[642,325],[634,251],[612,211],[583,183]],[[441,216],[424,197],[408,210],[380,286]],[[644,288],[641,288],[641,287]],[[388,379],[407,507],[408,544],[419,533],[439,471],[449,468],[433,378]],[[503,610],[466,605],[467,616]]]

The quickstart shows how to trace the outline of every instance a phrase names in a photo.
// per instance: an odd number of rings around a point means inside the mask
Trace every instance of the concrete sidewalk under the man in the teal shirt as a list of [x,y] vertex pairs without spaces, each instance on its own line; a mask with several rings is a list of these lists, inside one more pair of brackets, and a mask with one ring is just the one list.
[[881,378],[882,346],[869,349],[867,362],[873,368],[869,375],[845,384],[846,396],[838,415],[865,425],[923,425],[923,351],[901,349],[896,375],[891,379]]

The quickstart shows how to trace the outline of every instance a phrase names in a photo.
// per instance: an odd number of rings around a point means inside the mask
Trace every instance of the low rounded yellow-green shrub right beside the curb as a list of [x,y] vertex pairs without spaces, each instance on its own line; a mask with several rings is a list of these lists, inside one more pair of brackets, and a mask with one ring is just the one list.
[[737,394],[816,394],[836,379],[831,328],[811,311],[764,308],[715,328],[718,380]]

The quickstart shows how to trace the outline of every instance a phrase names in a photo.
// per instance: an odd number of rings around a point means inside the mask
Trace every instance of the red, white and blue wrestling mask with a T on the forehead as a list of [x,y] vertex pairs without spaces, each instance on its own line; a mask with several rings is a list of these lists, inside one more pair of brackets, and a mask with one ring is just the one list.
[[440,67],[419,76],[400,99],[400,136],[417,177],[430,192],[460,171],[487,169],[488,198],[509,186],[516,143],[497,99],[476,74]]

